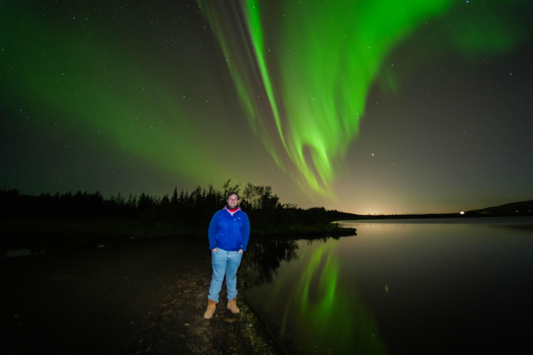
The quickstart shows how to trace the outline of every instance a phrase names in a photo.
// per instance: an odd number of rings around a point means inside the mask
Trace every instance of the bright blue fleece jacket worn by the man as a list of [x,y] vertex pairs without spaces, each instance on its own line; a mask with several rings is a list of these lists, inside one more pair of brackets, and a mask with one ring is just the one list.
[[221,248],[223,250],[246,252],[246,245],[250,239],[250,220],[248,215],[239,208],[230,214],[224,208],[215,212],[209,224],[209,249]]

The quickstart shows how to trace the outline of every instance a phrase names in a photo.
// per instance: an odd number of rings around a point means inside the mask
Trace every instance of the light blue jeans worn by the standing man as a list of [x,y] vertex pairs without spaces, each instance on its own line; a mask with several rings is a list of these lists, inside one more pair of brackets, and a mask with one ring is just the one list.
[[209,288],[209,300],[219,303],[219,293],[222,289],[224,275],[226,275],[226,288],[228,301],[237,297],[237,269],[241,265],[242,252],[228,252],[217,248],[218,252],[211,252],[213,277]]

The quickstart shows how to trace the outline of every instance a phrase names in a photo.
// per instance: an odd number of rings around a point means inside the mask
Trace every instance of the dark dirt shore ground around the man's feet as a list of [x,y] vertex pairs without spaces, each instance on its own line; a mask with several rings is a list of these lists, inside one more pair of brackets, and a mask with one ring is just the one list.
[[242,293],[203,319],[206,241],[101,247],[0,260],[0,354],[284,354]]

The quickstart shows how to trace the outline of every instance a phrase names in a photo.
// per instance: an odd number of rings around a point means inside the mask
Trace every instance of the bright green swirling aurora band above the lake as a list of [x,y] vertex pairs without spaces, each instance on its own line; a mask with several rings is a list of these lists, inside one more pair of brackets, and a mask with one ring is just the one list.
[[[466,59],[508,51],[530,32],[502,15],[527,6],[523,1],[475,8],[455,0],[198,3],[257,137],[304,190],[332,198],[334,167],[358,135],[371,85],[379,80],[398,89],[400,73],[382,70],[395,46],[429,20],[439,29],[434,47],[416,48],[419,60],[446,48]],[[416,70],[415,58],[405,62]]]

